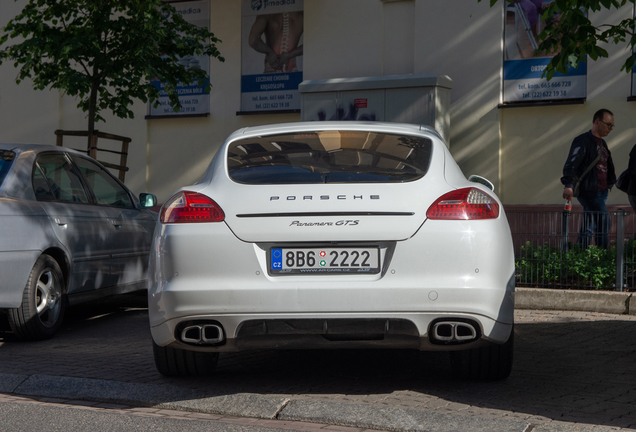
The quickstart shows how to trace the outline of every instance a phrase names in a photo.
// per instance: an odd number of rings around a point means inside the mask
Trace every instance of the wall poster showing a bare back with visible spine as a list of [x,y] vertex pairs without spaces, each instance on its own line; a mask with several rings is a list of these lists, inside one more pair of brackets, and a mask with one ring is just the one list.
[[303,0],[243,0],[241,111],[300,109]]

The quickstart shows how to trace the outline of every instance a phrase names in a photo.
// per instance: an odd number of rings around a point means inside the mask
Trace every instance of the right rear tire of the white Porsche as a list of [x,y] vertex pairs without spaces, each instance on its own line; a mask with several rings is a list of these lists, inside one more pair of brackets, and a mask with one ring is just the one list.
[[453,372],[462,379],[503,380],[510,376],[514,352],[514,326],[508,340],[501,345],[489,345],[451,352]]

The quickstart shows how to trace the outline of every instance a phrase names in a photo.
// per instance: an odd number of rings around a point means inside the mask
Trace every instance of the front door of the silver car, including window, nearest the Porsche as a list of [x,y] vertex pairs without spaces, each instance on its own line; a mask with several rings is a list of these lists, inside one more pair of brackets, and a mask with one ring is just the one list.
[[111,272],[116,284],[145,281],[155,218],[138,209],[130,191],[98,164],[79,156],[73,156],[73,161],[111,225]]

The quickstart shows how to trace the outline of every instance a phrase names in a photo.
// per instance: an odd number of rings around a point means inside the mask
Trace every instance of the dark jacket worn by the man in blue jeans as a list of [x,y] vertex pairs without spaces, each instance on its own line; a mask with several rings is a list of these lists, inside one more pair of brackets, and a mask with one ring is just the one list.
[[[601,145],[607,150],[607,188],[611,189],[616,183],[616,172],[614,171],[614,162],[612,154],[607,148],[605,140],[601,139]],[[577,136],[572,141],[570,153],[563,165],[563,177],[561,183],[565,187],[572,187],[574,176],[581,176],[583,171],[596,159],[598,152],[596,151],[596,139],[592,135],[592,131],[588,131]],[[634,161],[636,163],[636,161]],[[598,177],[596,175],[596,165],[581,180],[579,196],[596,196],[598,192]]]

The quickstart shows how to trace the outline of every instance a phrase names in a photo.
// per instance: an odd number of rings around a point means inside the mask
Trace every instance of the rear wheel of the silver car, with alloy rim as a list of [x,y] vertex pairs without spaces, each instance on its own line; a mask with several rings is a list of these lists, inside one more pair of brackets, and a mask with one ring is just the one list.
[[64,276],[52,257],[40,255],[22,294],[22,304],[9,309],[9,325],[22,340],[53,337],[64,318]]

